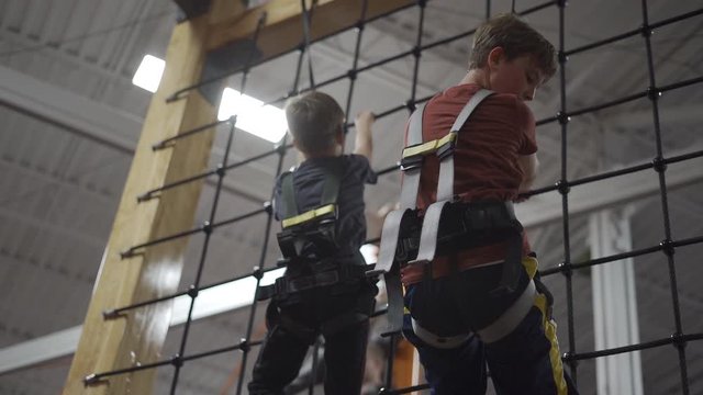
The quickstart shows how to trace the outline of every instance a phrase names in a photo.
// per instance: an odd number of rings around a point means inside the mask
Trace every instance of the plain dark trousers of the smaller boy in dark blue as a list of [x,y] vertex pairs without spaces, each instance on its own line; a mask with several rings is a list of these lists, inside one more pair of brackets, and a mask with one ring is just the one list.
[[376,285],[362,281],[306,290],[288,301],[271,302],[267,313],[269,331],[254,365],[249,394],[283,394],[283,387],[298,375],[309,347],[322,334],[325,394],[358,395],[366,362],[368,316],[377,291]]

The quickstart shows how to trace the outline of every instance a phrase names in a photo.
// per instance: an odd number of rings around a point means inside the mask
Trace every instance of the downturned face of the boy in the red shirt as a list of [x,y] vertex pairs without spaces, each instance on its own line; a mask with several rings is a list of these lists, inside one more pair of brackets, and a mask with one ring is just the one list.
[[491,89],[499,93],[513,93],[528,101],[535,98],[537,88],[544,81],[544,74],[532,55],[507,60],[504,54],[490,63]]

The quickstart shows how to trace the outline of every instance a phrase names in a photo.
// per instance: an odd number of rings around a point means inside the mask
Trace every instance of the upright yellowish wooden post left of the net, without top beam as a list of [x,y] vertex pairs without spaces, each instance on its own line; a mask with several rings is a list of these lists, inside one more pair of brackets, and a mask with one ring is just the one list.
[[215,109],[198,91],[167,103],[176,90],[197,83],[205,58],[205,15],[176,26],[166,56],[160,88],[152,99],[142,136],[115,215],[100,273],[83,323],[78,349],[64,394],[149,394],[155,370],[122,374],[85,386],[92,373],[109,372],[154,362],[170,323],[170,303],[140,308],[132,314],[104,319],[102,312],[174,293],[180,281],[187,239],[155,247],[121,259],[132,246],[192,227],[201,182],[137,203],[136,196],[165,183],[205,169],[213,135],[202,133],[172,147],[152,151],[152,145],[192,127],[212,122]]

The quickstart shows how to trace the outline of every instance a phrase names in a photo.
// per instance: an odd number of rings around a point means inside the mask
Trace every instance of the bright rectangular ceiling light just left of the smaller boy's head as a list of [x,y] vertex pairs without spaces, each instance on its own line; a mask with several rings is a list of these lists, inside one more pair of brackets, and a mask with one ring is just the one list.
[[271,143],[280,142],[288,129],[283,110],[270,104],[264,105],[258,99],[225,88],[217,120],[224,121],[232,115],[237,115],[238,128]]

